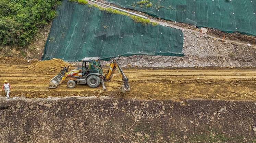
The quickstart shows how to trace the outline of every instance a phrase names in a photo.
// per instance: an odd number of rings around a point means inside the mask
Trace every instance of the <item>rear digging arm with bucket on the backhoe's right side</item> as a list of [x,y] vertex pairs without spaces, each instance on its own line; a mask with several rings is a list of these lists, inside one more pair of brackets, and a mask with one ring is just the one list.
[[130,85],[128,83],[128,78],[124,75],[124,72],[122,70],[122,68],[119,66],[118,62],[116,60],[113,59],[113,61],[109,64],[109,69],[108,69],[108,73],[107,75],[105,75],[103,78],[104,78],[104,81],[109,81],[113,75],[114,75],[114,72],[115,72],[115,69],[118,69],[120,75],[121,75],[121,78],[123,80],[123,85],[121,87],[119,87],[119,89],[125,93],[125,92],[129,92],[130,91]]

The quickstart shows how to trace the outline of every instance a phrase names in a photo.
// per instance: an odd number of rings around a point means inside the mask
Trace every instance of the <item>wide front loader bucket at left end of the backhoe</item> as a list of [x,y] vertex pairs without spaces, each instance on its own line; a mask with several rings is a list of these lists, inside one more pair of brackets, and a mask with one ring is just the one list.
[[66,72],[68,72],[68,68],[64,67],[63,69],[61,69],[61,71],[57,76],[55,76],[50,80],[50,84],[49,84],[50,89],[57,88],[57,86],[59,86],[65,80],[63,78],[66,77]]

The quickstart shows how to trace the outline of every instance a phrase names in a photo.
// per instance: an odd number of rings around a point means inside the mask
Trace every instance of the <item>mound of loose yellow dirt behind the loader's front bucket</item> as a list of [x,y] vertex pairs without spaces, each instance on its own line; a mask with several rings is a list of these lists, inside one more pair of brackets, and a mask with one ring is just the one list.
[[35,73],[42,73],[42,72],[59,72],[62,67],[68,66],[69,64],[64,62],[61,59],[55,59],[48,61],[40,61],[34,63],[26,68],[26,70],[35,72]]

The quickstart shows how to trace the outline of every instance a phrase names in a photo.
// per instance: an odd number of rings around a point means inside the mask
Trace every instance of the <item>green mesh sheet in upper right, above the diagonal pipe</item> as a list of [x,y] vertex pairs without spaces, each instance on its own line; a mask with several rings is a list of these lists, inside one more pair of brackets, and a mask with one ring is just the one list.
[[[109,1],[109,0],[105,0]],[[256,35],[256,0],[110,0],[166,20]]]

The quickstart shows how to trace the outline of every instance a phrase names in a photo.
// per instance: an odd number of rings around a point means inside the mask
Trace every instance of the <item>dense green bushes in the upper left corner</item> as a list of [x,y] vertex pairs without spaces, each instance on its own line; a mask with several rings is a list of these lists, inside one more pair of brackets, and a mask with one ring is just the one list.
[[26,46],[56,16],[58,0],[1,0],[0,45]]

